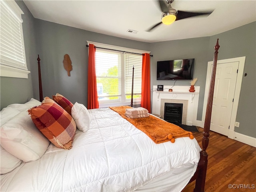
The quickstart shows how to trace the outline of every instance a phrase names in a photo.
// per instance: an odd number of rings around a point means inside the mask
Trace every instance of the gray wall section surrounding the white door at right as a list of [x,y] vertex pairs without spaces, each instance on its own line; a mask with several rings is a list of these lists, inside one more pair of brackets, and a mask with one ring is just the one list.
[[[219,38],[218,60],[246,56],[240,92],[235,132],[256,138],[256,22],[214,35],[210,44]],[[209,60],[211,56],[208,56]]]

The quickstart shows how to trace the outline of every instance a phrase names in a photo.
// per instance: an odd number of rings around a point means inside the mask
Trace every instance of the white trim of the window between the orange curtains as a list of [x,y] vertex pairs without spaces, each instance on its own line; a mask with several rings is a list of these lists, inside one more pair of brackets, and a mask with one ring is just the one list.
[[[94,44],[94,46],[96,47],[100,47],[100,48],[107,48],[107,49],[113,49],[113,50],[119,50],[119,51],[123,51],[123,52],[132,52],[132,53],[138,53],[138,54],[143,54],[143,53],[148,53],[150,54],[150,51],[145,51],[145,50],[138,50],[138,49],[132,49],[132,48],[126,48],[126,47],[120,47],[120,46],[114,46],[114,45],[108,45],[108,44],[103,44],[103,43],[98,43],[98,42],[92,42],[92,41],[86,41],[87,44]],[[88,50],[89,51],[89,50]],[[121,59],[124,60],[124,57],[122,57]],[[124,66],[122,66],[124,67]],[[124,71],[124,70],[122,70]],[[122,74],[123,77],[124,74]],[[139,105],[141,102],[140,99],[133,99],[133,105]],[[120,105],[130,105],[131,102],[116,102],[116,103],[101,103],[99,104],[99,108],[106,108],[109,106],[120,106]]]

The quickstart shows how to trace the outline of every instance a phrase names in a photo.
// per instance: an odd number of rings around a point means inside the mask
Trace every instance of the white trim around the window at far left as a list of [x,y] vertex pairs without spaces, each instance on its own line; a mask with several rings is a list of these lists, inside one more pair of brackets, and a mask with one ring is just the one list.
[[[3,1],[16,15],[18,20],[22,23],[22,17],[21,14],[24,14],[24,12],[20,9],[20,7],[16,4],[14,0],[4,0]],[[22,35],[22,41],[24,46],[24,38],[23,38],[23,30],[21,29],[21,35]],[[8,60],[0,59],[0,76],[2,77],[14,77],[14,78],[28,78],[28,74],[30,71],[28,71],[28,68],[26,66],[26,54],[24,50],[24,60],[25,60],[25,66],[18,66],[17,64],[13,64],[11,62],[8,62]]]

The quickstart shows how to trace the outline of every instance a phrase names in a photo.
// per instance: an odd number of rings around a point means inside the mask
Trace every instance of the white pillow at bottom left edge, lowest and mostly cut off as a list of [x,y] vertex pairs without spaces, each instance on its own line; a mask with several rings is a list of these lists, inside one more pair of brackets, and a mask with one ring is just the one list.
[[6,174],[14,170],[16,167],[20,166],[22,163],[22,160],[19,158],[16,158],[12,154],[10,154],[8,151],[6,151],[2,146],[1,147],[1,167],[0,172],[2,174]]

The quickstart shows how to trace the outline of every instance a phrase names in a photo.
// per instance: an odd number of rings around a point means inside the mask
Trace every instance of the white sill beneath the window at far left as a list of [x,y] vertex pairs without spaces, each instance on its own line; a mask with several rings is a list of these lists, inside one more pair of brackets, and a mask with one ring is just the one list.
[[30,71],[0,64],[1,77],[28,78]]

